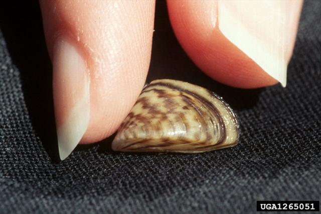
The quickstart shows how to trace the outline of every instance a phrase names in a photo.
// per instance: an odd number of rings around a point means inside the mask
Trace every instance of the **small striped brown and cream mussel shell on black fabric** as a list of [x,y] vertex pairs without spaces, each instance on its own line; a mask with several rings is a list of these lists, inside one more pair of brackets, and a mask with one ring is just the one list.
[[234,146],[238,138],[236,115],[221,97],[200,86],[163,79],[143,88],[112,149],[196,153]]

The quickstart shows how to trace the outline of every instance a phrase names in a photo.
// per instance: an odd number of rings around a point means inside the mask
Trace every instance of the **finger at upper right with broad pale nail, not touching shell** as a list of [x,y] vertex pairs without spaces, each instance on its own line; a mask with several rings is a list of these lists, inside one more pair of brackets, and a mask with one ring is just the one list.
[[302,1],[170,1],[174,32],[194,63],[230,86],[286,84]]

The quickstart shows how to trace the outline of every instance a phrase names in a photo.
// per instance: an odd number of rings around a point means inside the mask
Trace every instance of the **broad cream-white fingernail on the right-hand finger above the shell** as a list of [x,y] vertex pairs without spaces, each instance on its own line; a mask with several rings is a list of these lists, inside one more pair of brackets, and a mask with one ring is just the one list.
[[287,1],[223,1],[218,23],[223,35],[271,77],[286,85]]

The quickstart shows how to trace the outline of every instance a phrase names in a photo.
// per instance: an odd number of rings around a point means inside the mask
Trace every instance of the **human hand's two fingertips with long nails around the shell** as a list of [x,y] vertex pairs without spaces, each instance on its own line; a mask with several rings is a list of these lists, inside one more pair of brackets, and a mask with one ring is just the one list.
[[[147,75],[154,1],[40,1],[61,159],[116,131]],[[174,32],[213,79],[285,85],[302,1],[168,1]]]

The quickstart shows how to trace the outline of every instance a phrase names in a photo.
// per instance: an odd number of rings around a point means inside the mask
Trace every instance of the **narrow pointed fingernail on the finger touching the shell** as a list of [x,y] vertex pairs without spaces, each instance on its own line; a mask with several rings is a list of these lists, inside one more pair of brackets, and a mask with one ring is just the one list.
[[56,39],[53,52],[53,94],[59,156],[75,149],[89,123],[89,72],[75,43]]

